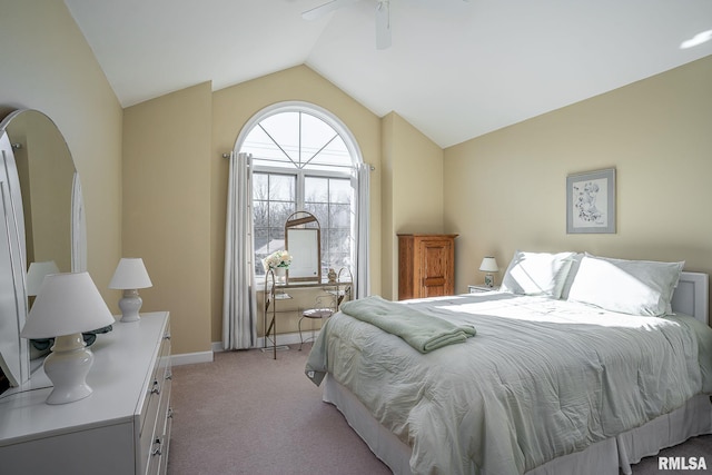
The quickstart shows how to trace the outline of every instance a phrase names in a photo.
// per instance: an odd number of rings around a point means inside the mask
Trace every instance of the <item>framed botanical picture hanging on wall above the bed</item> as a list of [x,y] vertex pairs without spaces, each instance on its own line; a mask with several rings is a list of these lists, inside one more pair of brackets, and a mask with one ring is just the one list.
[[615,234],[615,168],[566,177],[566,232]]

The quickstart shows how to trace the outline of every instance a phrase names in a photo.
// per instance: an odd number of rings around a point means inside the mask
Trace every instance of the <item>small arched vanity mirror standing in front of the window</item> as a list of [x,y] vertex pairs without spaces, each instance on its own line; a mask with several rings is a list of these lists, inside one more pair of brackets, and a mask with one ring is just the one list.
[[285,248],[291,256],[287,281],[322,281],[322,229],[310,212],[297,211],[285,222]]

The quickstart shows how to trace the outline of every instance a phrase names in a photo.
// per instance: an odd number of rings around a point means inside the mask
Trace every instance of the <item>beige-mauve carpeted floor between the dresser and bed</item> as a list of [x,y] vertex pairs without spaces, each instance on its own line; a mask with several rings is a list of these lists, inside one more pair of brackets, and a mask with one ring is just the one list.
[[[168,474],[389,474],[304,375],[309,349],[293,346],[277,360],[258,349],[218,353],[212,363],[174,367]],[[660,455],[705,456],[710,467],[695,473],[712,474],[712,436]],[[659,471],[657,456],[634,467],[634,475],[674,473]]]

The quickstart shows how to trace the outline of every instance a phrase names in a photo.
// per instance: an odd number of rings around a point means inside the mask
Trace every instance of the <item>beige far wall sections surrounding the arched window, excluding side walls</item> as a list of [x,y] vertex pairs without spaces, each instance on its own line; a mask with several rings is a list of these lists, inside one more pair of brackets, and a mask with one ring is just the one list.
[[[442,230],[442,150],[398,116],[389,116],[393,127],[383,130],[396,142],[390,166],[402,174],[389,189],[400,191],[382,197],[382,120],[305,66],[211,95],[206,83],[127,108],[123,255],[146,260],[156,287],[141,291],[144,306],[147,310],[171,310],[177,354],[209,350],[210,342],[222,338],[228,171],[222,154],[234,149],[254,115],[294,100],[315,103],[337,116],[355,137],[364,161],[375,167],[370,196],[373,294],[382,294],[382,280],[393,278],[390,266],[382,265],[384,236],[395,243],[399,230]],[[206,140],[210,142],[208,150],[204,148]],[[205,174],[209,174],[207,188]],[[179,195],[180,187],[185,195]],[[382,209],[386,207],[393,209],[393,218],[388,230],[382,231]],[[177,269],[186,249],[192,264]],[[204,264],[209,267],[207,276]],[[295,331],[296,323],[296,314],[287,317],[280,333]]]

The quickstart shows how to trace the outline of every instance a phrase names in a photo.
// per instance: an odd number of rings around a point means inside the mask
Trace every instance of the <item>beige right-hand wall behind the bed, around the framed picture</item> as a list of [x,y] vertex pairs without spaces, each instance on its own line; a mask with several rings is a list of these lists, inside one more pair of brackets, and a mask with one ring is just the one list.
[[[457,290],[493,254],[578,250],[712,273],[712,57],[445,150]],[[566,176],[614,167],[617,232],[567,235]],[[502,278],[502,273],[497,276]]]

